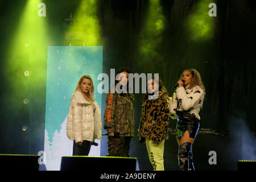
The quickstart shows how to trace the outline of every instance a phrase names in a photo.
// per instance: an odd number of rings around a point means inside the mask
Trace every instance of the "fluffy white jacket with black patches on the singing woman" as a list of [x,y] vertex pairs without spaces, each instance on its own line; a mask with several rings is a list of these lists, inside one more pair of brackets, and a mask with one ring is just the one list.
[[204,90],[196,85],[192,89],[186,89],[180,86],[176,89],[176,94],[169,100],[171,118],[175,119],[176,111],[189,111],[190,114],[195,114],[197,119],[200,119],[199,111],[203,106]]

